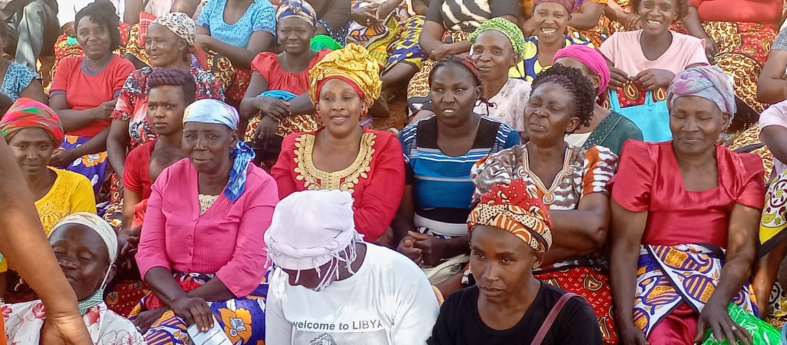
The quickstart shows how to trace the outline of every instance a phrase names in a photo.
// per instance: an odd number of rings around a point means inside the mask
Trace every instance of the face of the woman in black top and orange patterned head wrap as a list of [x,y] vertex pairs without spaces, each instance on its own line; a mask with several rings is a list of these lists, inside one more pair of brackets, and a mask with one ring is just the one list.
[[486,300],[503,303],[533,279],[543,255],[494,226],[475,226],[470,236],[470,269]]

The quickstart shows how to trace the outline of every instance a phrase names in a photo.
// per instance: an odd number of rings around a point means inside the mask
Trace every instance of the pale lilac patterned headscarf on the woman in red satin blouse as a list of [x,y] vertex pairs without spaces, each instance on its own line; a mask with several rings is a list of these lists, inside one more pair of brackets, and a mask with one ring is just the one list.
[[678,72],[667,90],[667,105],[672,108],[678,97],[696,96],[712,101],[722,112],[730,114],[730,120],[737,111],[733,77],[717,66],[699,66]]

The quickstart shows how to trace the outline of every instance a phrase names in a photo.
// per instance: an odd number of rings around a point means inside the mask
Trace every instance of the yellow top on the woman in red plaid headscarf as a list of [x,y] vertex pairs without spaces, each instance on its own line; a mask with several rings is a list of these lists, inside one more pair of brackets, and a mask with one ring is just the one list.
[[[81,174],[50,167],[57,174],[52,189],[35,201],[35,209],[46,235],[57,222],[76,212],[96,213],[96,201],[91,182]],[[8,261],[2,258],[0,272],[8,270]]]

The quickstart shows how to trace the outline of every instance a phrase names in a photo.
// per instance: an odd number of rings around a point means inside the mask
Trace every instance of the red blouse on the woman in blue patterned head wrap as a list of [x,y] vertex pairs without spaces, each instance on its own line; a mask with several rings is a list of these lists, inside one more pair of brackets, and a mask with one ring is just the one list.
[[327,53],[331,53],[331,50],[320,50],[309,61],[308,68],[300,73],[293,73],[283,70],[276,53],[263,52],[254,57],[251,69],[260,73],[268,82],[268,90],[286,90],[293,94],[305,94],[309,92],[309,70],[320,62]]

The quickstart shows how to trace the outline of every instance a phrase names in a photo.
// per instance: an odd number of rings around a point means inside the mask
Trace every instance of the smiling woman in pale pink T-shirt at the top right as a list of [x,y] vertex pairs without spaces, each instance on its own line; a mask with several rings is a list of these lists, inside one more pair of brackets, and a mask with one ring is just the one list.
[[667,88],[678,72],[708,64],[701,39],[670,30],[674,21],[688,13],[686,1],[632,0],[642,29],[615,32],[600,47],[609,64],[611,89],[621,90],[629,83],[647,91]]

